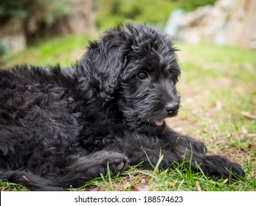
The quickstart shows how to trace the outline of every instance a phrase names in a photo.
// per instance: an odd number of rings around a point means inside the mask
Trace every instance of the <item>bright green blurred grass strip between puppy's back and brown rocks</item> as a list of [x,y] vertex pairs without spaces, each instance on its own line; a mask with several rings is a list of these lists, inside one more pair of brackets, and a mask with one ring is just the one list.
[[0,63],[4,68],[21,63],[31,65],[55,65],[60,63],[62,66],[70,66],[85,52],[89,39],[85,36],[69,36],[41,40],[17,54],[4,55]]

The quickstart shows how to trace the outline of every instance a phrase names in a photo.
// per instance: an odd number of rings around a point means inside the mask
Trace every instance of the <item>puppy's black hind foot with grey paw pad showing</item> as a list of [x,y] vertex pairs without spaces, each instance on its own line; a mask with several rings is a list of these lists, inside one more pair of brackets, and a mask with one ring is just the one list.
[[[108,171],[109,168],[109,171]],[[58,166],[58,174],[46,177],[63,188],[79,187],[87,180],[110,173],[111,176],[128,168],[128,157],[117,152],[100,151],[86,157],[67,157]]]

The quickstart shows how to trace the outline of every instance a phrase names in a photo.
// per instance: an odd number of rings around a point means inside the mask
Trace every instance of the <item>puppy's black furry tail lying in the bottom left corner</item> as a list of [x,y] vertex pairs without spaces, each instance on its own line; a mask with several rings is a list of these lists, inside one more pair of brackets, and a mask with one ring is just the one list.
[[7,170],[0,168],[0,180],[24,185],[30,191],[63,191],[50,180],[21,170]]

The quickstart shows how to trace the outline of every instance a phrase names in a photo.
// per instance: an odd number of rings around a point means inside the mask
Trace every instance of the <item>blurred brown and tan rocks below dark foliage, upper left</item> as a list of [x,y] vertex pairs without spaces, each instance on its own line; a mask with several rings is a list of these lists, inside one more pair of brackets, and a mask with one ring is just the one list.
[[26,19],[10,18],[0,24],[0,46],[14,53],[26,48],[27,43],[58,35],[94,35],[94,0],[74,1],[68,15],[61,16],[52,24],[45,24],[29,15]]

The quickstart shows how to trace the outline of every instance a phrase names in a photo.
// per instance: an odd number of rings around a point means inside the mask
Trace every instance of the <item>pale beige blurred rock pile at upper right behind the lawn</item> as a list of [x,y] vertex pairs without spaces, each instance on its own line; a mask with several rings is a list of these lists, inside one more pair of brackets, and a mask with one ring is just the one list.
[[[188,43],[216,43],[256,49],[256,1],[218,0],[181,18],[174,34]],[[170,33],[170,32],[169,32]]]

